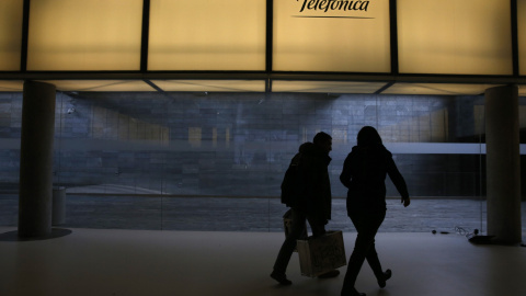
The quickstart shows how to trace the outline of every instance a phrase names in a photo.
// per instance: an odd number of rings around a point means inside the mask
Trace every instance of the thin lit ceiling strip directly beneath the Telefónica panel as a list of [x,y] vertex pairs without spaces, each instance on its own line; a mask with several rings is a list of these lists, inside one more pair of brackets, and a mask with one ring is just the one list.
[[273,92],[375,93],[385,82],[272,81]]

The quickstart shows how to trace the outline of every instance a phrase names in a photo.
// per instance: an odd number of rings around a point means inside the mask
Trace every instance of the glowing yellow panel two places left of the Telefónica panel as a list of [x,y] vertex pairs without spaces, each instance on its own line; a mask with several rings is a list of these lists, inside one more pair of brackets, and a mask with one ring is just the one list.
[[28,70],[139,70],[142,0],[31,1]]

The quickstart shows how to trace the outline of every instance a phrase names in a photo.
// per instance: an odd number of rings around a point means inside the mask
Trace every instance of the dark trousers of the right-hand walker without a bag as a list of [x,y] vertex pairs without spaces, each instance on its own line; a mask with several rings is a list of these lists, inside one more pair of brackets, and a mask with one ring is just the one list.
[[386,218],[386,212],[356,212],[352,213],[350,217],[358,235],[356,236],[353,253],[348,260],[347,272],[343,281],[342,296],[354,293],[356,277],[366,259],[377,278],[381,278],[384,273],[375,248],[375,237],[378,228],[380,228],[381,223]]

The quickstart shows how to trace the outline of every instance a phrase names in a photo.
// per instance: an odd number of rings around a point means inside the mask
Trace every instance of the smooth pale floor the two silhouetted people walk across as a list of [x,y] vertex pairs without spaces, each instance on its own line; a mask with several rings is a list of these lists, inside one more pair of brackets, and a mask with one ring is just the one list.
[[[340,295],[343,273],[300,275],[291,286],[270,276],[282,232],[68,229],[70,235],[16,241],[0,227],[0,295]],[[347,257],[355,232],[344,232]],[[393,276],[380,289],[364,265],[357,288],[367,295],[525,295],[526,248],[472,244],[464,236],[381,232],[378,251]]]

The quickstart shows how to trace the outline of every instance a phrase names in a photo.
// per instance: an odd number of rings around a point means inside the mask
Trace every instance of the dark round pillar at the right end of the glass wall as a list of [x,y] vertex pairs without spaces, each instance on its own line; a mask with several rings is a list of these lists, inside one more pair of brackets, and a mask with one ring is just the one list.
[[522,240],[518,88],[485,91],[488,235],[495,242]]

